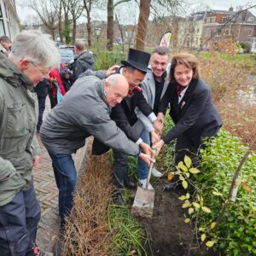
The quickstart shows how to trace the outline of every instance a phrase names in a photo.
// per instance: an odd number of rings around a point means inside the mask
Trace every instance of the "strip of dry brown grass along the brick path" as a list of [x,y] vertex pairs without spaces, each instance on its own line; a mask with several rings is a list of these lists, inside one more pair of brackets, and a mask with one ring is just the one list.
[[62,255],[108,255],[108,204],[113,193],[109,155],[91,156],[81,174]]

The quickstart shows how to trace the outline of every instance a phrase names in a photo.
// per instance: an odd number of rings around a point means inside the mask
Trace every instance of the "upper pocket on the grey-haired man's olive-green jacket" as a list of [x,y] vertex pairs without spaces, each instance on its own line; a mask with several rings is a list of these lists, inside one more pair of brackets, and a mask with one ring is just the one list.
[[6,129],[3,137],[20,137],[26,134],[26,104],[16,103],[7,107]]

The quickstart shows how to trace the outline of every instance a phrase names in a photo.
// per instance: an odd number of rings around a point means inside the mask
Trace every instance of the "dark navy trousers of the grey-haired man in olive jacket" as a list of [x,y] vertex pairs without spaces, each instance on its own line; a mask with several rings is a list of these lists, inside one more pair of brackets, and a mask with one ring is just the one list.
[[33,185],[26,191],[20,191],[7,205],[0,207],[1,256],[26,255],[36,242],[40,214]]

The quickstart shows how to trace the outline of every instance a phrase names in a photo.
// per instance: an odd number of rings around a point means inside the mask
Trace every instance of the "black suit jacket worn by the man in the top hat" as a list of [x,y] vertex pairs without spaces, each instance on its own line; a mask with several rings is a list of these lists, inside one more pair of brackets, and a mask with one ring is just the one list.
[[[119,73],[119,70],[117,73]],[[126,136],[129,137],[131,141],[137,142],[140,134],[136,129],[131,127],[137,122],[135,108],[139,108],[145,116],[148,116],[153,110],[143,96],[143,91],[133,90],[133,93],[133,96],[126,96],[120,104],[112,108],[110,117],[116,122],[119,128],[125,132]],[[106,153],[108,149],[109,148],[94,139],[92,154],[103,154]]]

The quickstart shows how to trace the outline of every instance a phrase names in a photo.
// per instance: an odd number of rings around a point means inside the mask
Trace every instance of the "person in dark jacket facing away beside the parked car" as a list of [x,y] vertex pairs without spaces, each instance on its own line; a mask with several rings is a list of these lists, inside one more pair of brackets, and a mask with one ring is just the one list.
[[84,73],[87,69],[92,71],[95,70],[95,60],[92,53],[85,49],[85,44],[83,41],[75,42],[75,52],[76,56],[74,57],[73,62],[73,83],[76,79],[79,78],[81,73]]

